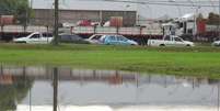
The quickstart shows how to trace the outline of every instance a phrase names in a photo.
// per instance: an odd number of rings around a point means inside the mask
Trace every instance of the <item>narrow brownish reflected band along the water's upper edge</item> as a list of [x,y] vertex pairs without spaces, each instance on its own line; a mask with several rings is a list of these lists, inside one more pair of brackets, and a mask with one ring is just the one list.
[[[53,78],[53,68],[50,67],[1,67],[4,75],[21,76],[26,75],[30,78],[38,80],[50,80]],[[184,87],[199,87],[201,84],[218,84],[218,80],[207,78],[193,78],[193,77],[174,77],[174,76],[160,76],[160,75],[137,75],[136,73],[116,71],[116,70],[93,70],[93,69],[71,69],[58,68],[59,80],[76,80],[80,82],[100,81],[111,85],[120,85],[123,82],[132,82],[137,86],[146,84],[155,84],[167,87],[170,85],[183,85]],[[2,79],[2,78],[0,78]],[[5,81],[8,79],[8,81]],[[4,81],[10,82],[10,77],[4,76]]]

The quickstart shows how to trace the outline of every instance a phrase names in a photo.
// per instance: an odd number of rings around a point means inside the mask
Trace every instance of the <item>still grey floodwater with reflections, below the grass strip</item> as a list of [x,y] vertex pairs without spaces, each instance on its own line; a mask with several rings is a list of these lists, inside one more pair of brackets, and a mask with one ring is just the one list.
[[219,86],[208,78],[1,66],[0,111],[53,111],[54,103],[57,111],[219,111]]

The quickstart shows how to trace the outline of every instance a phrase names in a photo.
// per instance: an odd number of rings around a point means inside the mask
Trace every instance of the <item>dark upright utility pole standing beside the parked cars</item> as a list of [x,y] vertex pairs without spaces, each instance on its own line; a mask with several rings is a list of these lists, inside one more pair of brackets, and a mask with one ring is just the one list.
[[55,0],[55,29],[54,29],[54,45],[58,45],[59,44],[59,38],[58,38],[58,23],[59,23],[59,0]]

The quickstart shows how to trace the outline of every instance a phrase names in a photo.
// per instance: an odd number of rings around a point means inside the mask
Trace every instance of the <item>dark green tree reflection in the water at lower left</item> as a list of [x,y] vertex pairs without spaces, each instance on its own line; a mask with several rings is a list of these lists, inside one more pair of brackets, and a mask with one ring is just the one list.
[[13,77],[12,85],[0,85],[0,111],[15,111],[16,102],[21,102],[27,95],[33,80],[24,77]]

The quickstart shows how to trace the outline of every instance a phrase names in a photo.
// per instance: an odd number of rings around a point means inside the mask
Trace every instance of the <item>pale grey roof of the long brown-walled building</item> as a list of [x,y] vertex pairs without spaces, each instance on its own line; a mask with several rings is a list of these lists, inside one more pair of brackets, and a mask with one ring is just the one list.
[[[109,1],[59,0],[60,10],[137,11],[137,4]],[[33,9],[53,9],[54,0],[32,0]]]

